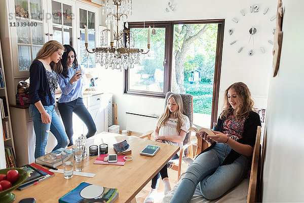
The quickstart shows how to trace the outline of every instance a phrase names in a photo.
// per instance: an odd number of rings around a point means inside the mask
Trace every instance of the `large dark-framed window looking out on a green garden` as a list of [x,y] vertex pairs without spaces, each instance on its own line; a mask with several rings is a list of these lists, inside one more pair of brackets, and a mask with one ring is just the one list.
[[224,20],[143,24],[129,23],[135,48],[146,47],[148,26],[156,34],[151,35],[150,51],[141,56],[140,64],[125,70],[124,93],[153,97],[165,97],[168,91],[190,93],[197,120],[206,120],[196,124],[209,127],[217,116]]

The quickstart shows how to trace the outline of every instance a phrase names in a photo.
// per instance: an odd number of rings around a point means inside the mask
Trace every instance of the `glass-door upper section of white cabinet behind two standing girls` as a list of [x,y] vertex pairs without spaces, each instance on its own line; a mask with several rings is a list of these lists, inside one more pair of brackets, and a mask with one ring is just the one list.
[[[95,67],[95,54],[85,51],[84,25],[89,29],[89,48],[95,48],[98,33],[98,6],[74,0],[1,0],[1,39],[6,53],[6,74],[10,104],[16,104],[19,81],[29,77],[29,67],[37,52],[49,40],[71,45],[85,69]],[[8,69],[6,69],[8,70]]]

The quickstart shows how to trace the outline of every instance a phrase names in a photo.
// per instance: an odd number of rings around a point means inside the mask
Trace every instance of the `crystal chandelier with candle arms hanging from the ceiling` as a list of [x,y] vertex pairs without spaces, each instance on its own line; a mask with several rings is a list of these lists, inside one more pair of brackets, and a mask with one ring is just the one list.
[[[98,48],[88,50],[88,28],[85,26],[85,47],[87,52],[96,54],[96,62],[105,69],[128,69],[133,68],[134,64],[139,63],[139,55],[146,54],[150,50],[150,26],[148,28],[147,36],[147,51],[143,49],[134,48],[135,40],[128,28],[128,15],[132,15],[132,0],[102,0],[103,8],[102,15],[106,10],[105,24],[110,29],[101,31],[100,46]],[[113,28],[115,27],[115,29]],[[122,27],[120,30],[119,27]],[[107,43],[107,33],[110,32],[110,47]],[[125,37],[125,41],[124,41]],[[124,46],[125,45],[125,46]]]

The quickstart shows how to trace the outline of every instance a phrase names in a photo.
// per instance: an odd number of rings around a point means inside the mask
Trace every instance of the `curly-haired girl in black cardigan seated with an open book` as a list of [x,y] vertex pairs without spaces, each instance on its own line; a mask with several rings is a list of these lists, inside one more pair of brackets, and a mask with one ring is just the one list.
[[215,134],[201,134],[211,146],[188,167],[170,202],[189,202],[198,184],[205,198],[216,199],[244,179],[257,126],[261,125],[259,115],[252,108],[253,100],[246,84],[238,82],[226,89]]

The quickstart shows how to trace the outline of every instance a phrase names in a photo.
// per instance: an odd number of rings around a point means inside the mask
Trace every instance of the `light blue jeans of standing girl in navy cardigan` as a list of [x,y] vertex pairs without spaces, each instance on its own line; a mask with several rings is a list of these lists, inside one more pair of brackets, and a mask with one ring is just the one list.
[[65,148],[68,144],[68,138],[62,126],[62,123],[55,111],[55,106],[43,106],[46,112],[51,117],[51,123],[43,123],[41,120],[41,114],[35,105],[29,106],[29,115],[33,119],[34,131],[36,134],[36,146],[35,146],[35,158],[45,155],[45,149],[48,143],[49,132],[51,131],[56,140],[57,145],[54,150],[61,147]]

